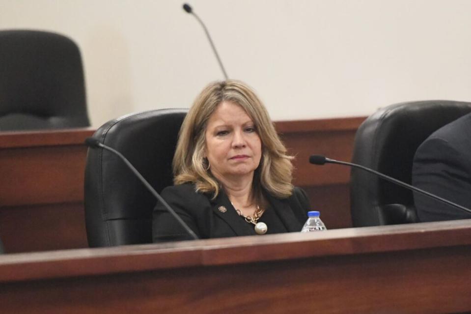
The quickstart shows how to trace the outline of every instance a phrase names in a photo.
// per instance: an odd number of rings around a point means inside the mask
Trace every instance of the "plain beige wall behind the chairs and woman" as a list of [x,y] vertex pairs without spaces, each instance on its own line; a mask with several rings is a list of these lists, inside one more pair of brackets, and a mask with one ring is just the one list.
[[[0,0],[0,29],[57,31],[80,46],[94,126],[189,107],[222,79],[175,0]],[[275,120],[367,115],[420,99],[471,101],[469,0],[193,0],[230,78]]]

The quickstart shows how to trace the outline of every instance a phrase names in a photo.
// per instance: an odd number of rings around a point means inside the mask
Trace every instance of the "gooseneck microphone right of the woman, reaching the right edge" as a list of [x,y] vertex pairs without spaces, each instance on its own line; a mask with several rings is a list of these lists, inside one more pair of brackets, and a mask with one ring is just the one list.
[[397,185],[400,185],[406,189],[409,189],[409,190],[413,190],[413,191],[416,191],[420,194],[423,194],[425,196],[428,196],[429,198],[432,198],[434,200],[439,200],[445,204],[448,204],[448,205],[451,205],[453,207],[456,207],[456,208],[459,208],[461,210],[464,210],[466,212],[469,212],[471,213],[471,209],[468,209],[466,207],[463,207],[461,205],[458,205],[450,200],[445,200],[439,196],[436,196],[435,194],[432,194],[432,193],[429,193],[427,191],[424,191],[422,189],[419,189],[419,188],[416,188],[415,186],[412,186],[410,184],[407,184],[405,182],[402,182],[402,181],[399,181],[397,179],[394,179],[393,177],[390,177],[386,174],[383,174],[381,172],[378,172],[378,171],[374,171],[373,169],[369,169],[369,168],[366,168],[364,166],[361,166],[361,165],[357,165],[357,164],[352,164],[352,163],[347,163],[345,161],[338,161],[338,160],[335,160],[335,159],[330,159],[330,158],[327,158],[325,156],[321,156],[321,155],[312,155],[309,157],[309,162],[311,164],[314,164],[314,165],[324,165],[325,163],[329,163],[329,164],[338,164],[338,165],[344,165],[344,166],[350,166],[350,167],[353,167],[353,168],[359,168],[359,169],[362,169],[364,171],[368,171],[370,173],[374,173],[376,174],[377,176],[389,181],[389,182],[392,182],[392,183],[395,183]]

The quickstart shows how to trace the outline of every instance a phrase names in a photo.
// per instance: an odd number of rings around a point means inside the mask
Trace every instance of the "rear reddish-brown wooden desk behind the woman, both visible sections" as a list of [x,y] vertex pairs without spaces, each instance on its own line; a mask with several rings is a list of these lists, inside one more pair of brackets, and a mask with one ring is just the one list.
[[[350,169],[313,166],[310,154],[350,160],[364,117],[277,122],[303,187],[329,228],[352,226]],[[87,247],[83,212],[85,138],[94,130],[0,133],[0,237],[6,252]],[[334,168],[335,167],[335,168]]]

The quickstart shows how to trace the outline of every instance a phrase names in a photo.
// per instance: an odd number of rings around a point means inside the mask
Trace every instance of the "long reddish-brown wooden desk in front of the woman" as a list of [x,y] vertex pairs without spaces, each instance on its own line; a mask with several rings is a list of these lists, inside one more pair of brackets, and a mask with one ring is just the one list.
[[471,220],[0,256],[2,313],[471,311]]

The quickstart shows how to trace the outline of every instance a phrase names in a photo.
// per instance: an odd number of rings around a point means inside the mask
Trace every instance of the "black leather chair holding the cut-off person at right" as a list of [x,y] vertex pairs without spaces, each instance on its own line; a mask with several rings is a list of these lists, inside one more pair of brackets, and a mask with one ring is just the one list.
[[[417,147],[443,125],[471,112],[471,103],[405,102],[378,110],[355,136],[352,162],[411,184]],[[352,169],[350,203],[354,227],[418,222],[412,191]]]

